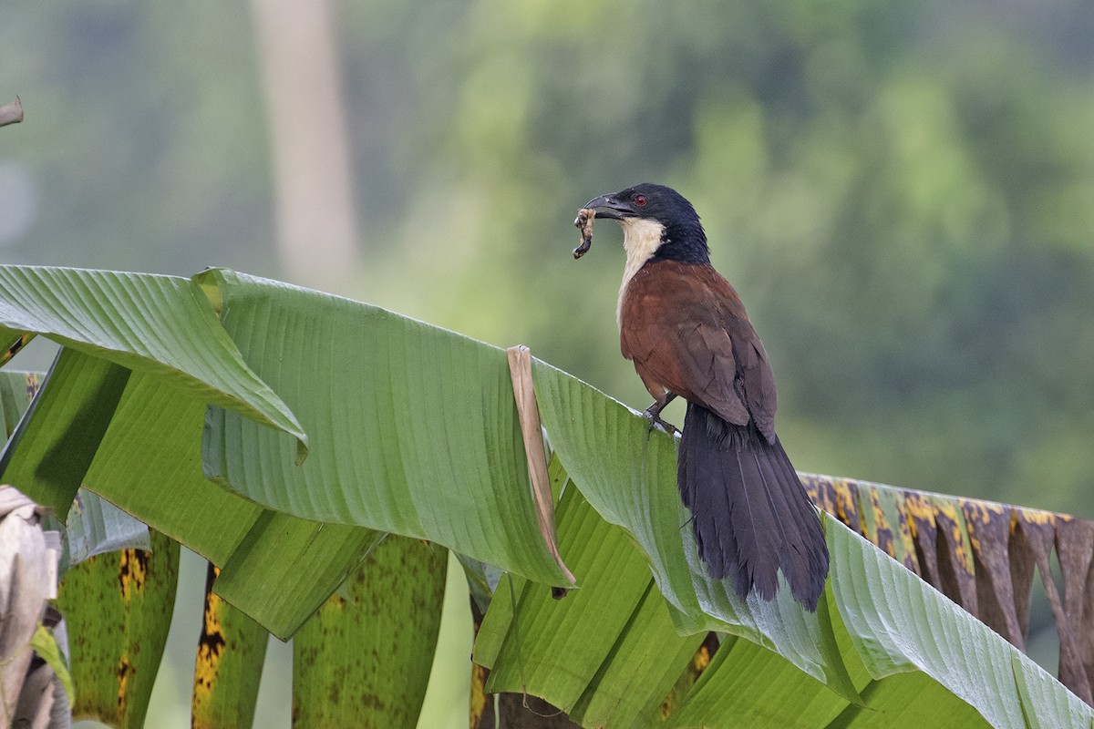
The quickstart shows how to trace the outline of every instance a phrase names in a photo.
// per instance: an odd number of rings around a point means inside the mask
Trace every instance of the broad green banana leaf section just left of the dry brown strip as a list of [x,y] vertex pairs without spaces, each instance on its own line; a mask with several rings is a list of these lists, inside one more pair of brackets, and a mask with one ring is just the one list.
[[298,517],[428,539],[568,584],[537,536],[502,350],[316,291],[223,270],[198,279],[217,287],[224,328],[312,439],[298,467],[288,438],[213,409],[207,475]]

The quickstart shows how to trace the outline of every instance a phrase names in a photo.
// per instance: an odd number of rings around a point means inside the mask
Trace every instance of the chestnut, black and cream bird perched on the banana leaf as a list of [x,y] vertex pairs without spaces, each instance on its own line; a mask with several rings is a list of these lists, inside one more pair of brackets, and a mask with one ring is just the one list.
[[781,569],[793,598],[815,611],[829,564],[824,529],[775,432],[767,352],[711,266],[695,208],[643,183],[585,210],[622,228],[619,344],[654,399],[643,413],[650,427],[672,428],[662,409],[687,401],[676,483],[710,577],[731,578],[742,599],[772,600]]

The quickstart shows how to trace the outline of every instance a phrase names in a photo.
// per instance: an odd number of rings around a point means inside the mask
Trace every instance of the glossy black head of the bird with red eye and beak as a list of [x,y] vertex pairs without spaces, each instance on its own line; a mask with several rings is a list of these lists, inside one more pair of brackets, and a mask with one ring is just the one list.
[[671,259],[684,263],[709,263],[707,234],[699,215],[687,199],[664,185],[642,183],[619,192],[602,195],[590,200],[585,208],[596,211],[597,217],[615,220],[624,228],[624,244],[628,239],[648,237],[660,232],[657,245],[650,246],[650,258]]

